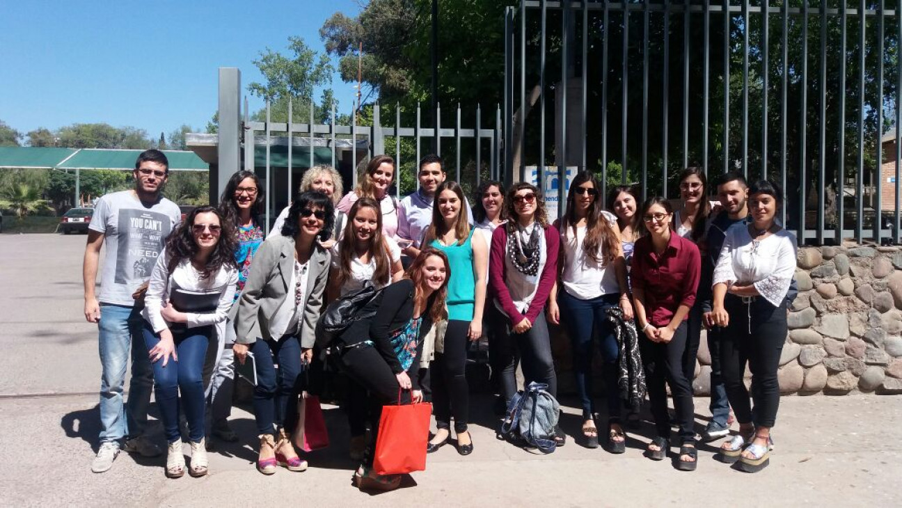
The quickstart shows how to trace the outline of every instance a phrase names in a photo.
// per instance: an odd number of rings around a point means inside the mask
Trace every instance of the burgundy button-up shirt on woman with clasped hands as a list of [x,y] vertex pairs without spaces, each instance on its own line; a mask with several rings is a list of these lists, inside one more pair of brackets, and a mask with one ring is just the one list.
[[[666,327],[680,305],[695,305],[702,272],[702,256],[691,240],[670,232],[664,254],[658,257],[651,236],[636,240],[630,279],[645,292],[645,314],[653,327]],[[688,319],[688,315],[686,315]]]

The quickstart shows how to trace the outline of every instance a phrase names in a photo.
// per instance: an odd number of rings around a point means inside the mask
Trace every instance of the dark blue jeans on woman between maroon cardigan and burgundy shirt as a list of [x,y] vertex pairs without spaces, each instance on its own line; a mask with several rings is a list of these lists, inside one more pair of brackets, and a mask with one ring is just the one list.
[[607,393],[608,419],[620,420],[622,402],[617,385],[620,346],[611,321],[605,310],[616,307],[619,293],[600,296],[591,300],[581,300],[562,289],[558,300],[562,318],[570,333],[573,346],[573,371],[576,377],[576,393],[583,402],[583,418],[589,420],[595,412],[592,390],[592,360],[594,337],[598,337],[598,347],[604,360],[604,391]]

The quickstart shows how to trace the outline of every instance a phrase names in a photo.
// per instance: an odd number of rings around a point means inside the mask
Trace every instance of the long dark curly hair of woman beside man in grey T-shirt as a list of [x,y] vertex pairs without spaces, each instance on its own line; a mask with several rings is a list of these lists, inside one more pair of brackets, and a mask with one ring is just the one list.
[[198,254],[198,244],[194,241],[194,235],[191,230],[194,226],[194,219],[198,214],[212,213],[219,218],[219,240],[213,249],[213,254],[207,259],[207,264],[200,272],[201,279],[207,279],[213,273],[219,272],[223,266],[238,268],[235,263],[235,248],[238,240],[235,237],[235,223],[230,223],[219,213],[215,207],[205,205],[203,207],[194,208],[188,217],[179,224],[175,232],[166,240],[166,254],[170,256],[166,269],[170,272],[175,271],[179,263],[185,259],[193,259]]

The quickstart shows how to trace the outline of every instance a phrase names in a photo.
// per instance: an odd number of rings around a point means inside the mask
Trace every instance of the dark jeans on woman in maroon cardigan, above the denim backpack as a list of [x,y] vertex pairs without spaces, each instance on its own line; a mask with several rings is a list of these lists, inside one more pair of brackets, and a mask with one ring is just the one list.
[[[522,316],[514,317],[517,323]],[[514,323],[514,324],[517,324]],[[548,323],[545,314],[539,313],[536,322],[532,323],[524,333],[514,333],[511,328],[511,320],[502,315],[502,319],[492,322],[494,328],[494,341],[497,342],[493,351],[498,364],[501,366],[502,396],[504,402],[511,402],[517,393],[517,362],[523,363],[524,381],[529,384],[547,383],[548,393],[557,399],[557,374],[555,374],[555,362],[551,357],[551,340],[548,337]]]

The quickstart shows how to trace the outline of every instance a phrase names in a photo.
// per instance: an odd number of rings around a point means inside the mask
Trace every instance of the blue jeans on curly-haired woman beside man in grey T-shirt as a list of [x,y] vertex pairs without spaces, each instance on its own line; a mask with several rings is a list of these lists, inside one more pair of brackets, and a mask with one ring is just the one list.
[[[163,366],[162,359],[153,362],[153,388],[157,396],[157,407],[163,421],[166,441],[174,443],[181,439],[179,431],[179,391],[188,420],[188,439],[199,443],[204,439],[204,358],[207,346],[214,337],[213,327],[170,328],[175,342],[178,360],[169,359]],[[144,323],[144,344],[147,351],[160,342],[160,334],[154,333],[150,324]]]

